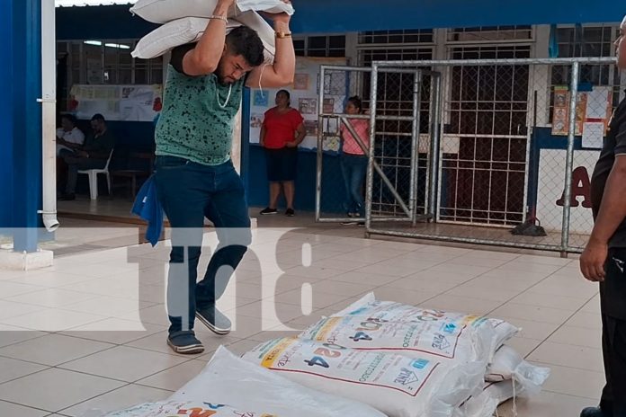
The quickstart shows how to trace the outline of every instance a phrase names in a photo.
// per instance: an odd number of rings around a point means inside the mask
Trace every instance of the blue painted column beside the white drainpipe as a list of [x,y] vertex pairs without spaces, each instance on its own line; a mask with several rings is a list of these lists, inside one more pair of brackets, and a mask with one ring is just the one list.
[[[41,0],[13,4],[13,245],[37,250],[41,196]],[[54,71],[55,68],[49,68]]]

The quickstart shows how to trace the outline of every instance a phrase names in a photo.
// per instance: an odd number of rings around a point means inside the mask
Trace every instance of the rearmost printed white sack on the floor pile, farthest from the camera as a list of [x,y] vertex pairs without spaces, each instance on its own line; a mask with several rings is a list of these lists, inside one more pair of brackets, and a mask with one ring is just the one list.
[[482,317],[479,315],[466,315],[462,313],[445,312],[432,308],[419,306],[407,306],[392,301],[380,301],[370,293],[360,300],[347,306],[344,310],[335,313],[333,317],[344,315],[362,316],[377,320],[387,320],[389,322],[416,322],[416,323],[449,323],[457,326],[470,325],[480,327],[483,324],[491,324],[494,328],[494,338],[491,342],[491,357],[496,350],[507,340],[512,338],[519,328],[503,320]]

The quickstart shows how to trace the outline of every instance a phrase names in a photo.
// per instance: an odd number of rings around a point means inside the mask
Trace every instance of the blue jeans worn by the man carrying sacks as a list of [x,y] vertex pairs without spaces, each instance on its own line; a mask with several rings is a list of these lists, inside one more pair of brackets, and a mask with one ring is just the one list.
[[[244,185],[230,161],[208,166],[157,156],[155,168],[156,192],[172,226],[167,276],[169,331],[192,330],[196,307],[215,305],[251,242]],[[215,225],[219,245],[204,278],[196,283],[204,217]]]

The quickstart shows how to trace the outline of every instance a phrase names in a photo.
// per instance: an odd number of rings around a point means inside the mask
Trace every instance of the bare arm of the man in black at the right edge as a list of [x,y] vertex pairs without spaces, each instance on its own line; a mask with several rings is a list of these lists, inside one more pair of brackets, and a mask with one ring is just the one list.
[[[617,143],[626,142],[626,123],[622,123]],[[616,152],[621,152],[616,149]],[[591,281],[604,280],[604,262],[608,254],[609,239],[626,218],[626,155],[615,156],[613,169],[606,180],[602,204],[595,218],[594,229],[585,251],[580,256],[580,271]]]

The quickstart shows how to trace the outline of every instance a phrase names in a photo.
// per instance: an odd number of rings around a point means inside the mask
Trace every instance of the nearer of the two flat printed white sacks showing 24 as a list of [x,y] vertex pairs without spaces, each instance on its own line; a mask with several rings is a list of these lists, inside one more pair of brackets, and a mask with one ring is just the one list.
[[304,386],[370,404],[390,417],[449,417],[479,393],[485,373],[481,362],[452,365],[295,338],[262,343],[243,358]]

